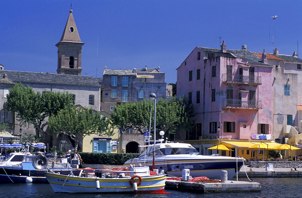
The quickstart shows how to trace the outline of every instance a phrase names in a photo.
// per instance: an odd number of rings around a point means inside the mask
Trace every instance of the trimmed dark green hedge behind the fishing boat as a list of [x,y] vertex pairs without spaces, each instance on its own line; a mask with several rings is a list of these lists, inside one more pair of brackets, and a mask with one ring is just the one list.
[[[123,165],[127,160],[137,158],[140,153],[88,153],[79,152],[85,164]],[[72,155],[73,156],[73,155]]]

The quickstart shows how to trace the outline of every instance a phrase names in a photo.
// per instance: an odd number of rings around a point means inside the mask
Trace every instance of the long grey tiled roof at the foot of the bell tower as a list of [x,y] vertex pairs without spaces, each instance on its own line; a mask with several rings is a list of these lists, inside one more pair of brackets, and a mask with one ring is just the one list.
[[100,79],[92,76],[78,76],[65,74],[20,72],[0,70],[0,76],[8,75],[8,79],[14,82],[54,84],[54,85],[76,85],[100,87]]

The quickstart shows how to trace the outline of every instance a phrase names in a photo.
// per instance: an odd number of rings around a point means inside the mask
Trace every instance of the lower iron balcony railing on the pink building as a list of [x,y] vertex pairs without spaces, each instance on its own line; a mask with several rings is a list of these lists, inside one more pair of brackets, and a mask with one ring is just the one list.
[[242,109],[262,109],[262,101],[225,99],[223,106]]

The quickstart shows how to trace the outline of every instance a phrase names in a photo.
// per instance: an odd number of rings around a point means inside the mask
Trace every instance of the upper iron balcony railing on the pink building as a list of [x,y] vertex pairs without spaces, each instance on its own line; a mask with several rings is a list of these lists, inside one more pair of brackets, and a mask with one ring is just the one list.
[[261,76],[250,76],[250,75],[235,75],[232,74],[223,74],[221,77],[223,82],[235,82],[242,84],[253,84],[253,85],[262,85]]

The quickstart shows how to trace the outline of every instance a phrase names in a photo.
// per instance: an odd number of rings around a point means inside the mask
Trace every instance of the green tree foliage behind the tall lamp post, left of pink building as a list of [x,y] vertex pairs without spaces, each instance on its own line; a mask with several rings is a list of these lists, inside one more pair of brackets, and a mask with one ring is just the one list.
[[[112,126],[123,131],[132,128],[143,134],[146,123],[149,125],[150,122],[151,107],[151,126],[153,126],[154,102],[151,100],[128,102],[114,107],[111,114]],[[186,97],[172,97],[171,100],[160,98],[156,102],[156,128],[158,131],[165,131],[166,135],[169,131],[190,129],[194,123],[191,117],[194,117],[194,106],[189,104]]]

